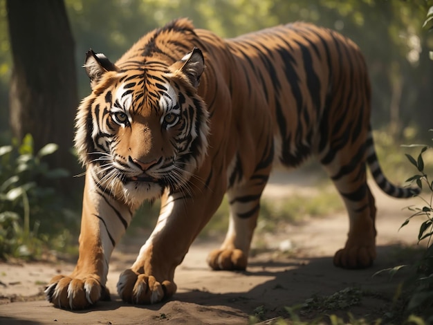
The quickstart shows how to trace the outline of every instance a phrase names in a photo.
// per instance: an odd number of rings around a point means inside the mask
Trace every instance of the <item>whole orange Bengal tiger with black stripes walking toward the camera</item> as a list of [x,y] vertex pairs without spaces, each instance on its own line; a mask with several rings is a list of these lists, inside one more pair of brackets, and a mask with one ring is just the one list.
[[160,215],[136,261],[118,280],[131,304],[176,292],[174,271],[225,193],[230,223],[214,270],[245,270],[260,197],[275,164],[315,155],[349,214],[333,263],[366,268],[376,258],[376,207],[366,165],[390,196],[371,136],[365,59],[333,30],[297,22],[221,39],[177,19],[149,32],[113,64],[93,50],[91,94],[77,109],[75,147],[86,167],[79,257],[46,288],[57,307],[107,299],[109,259],[143,201]]

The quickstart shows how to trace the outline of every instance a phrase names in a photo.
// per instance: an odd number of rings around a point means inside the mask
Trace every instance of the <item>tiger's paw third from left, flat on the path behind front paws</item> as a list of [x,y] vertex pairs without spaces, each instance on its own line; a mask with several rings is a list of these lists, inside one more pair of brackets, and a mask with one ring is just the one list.
[[208,255],[208,264],[213,270],[245,270],[248,257],[242,250],[213,250]]

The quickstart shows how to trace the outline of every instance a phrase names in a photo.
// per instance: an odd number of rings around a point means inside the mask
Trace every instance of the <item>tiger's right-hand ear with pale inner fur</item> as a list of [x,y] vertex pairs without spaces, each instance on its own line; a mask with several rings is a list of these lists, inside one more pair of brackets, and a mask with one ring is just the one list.
[[173,75],[184,75],[191,86],[195,89],[199,87],[200,77],[205,69],[205,58],[199,48],[194,47],[178,62],[170,66]]

